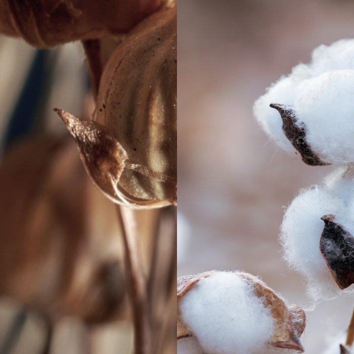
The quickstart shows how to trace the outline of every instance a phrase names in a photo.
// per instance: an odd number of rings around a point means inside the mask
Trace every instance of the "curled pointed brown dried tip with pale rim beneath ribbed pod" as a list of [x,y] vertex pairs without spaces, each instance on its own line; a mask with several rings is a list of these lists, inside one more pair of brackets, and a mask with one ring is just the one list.
[[123,173],[134,172],[150,178],[166,180],[156,176],[148,168],[128,162],[128,155],[117,139],[101,124],[92,120],[80,120],[71,113],[54,109],[74,136],[82,161],[93,183],[110,200],[134,208],[161,207],[169,200],[144,199],[132,196],[121,182]]

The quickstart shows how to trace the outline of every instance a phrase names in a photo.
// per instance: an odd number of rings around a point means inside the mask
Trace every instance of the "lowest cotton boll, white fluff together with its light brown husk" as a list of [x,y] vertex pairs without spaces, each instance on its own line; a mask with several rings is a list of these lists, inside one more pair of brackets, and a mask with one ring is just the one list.
[[305,322],[301,308],[248,273],[210,271],[177,280],[178,354],[303,351]]

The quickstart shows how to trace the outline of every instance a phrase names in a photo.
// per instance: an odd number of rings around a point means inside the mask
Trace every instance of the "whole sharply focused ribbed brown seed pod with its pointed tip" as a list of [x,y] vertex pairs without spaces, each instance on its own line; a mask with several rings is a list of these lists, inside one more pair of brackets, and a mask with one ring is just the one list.
[[94,183],[116,203],[177,203],[177,7],[142,21],[115,49],[92,120],[58,114]]

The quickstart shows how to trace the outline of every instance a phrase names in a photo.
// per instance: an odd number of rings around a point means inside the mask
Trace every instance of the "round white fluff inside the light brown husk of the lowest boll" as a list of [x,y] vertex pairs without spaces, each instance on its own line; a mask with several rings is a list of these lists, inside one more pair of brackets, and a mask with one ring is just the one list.
[[201,278],[179,301],[182,317],[205,353],[256,353],[272,336],[269,309],[252,284],[232,272]]

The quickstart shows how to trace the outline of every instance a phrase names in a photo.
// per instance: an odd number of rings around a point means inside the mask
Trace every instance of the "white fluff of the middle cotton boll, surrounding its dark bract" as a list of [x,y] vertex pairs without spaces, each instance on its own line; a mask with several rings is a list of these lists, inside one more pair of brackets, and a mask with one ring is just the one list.
[[353,286],[339,289],[319,249],[324,215],[335,215],[335,221],[354,235],[353,177],[353,172],[345,173],[345,169],[335,171],[321,184],[300,191],[284,215],[280,240],[285,259],[307,278],[308,294],[315,301],[354,291]]

